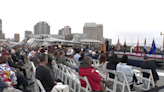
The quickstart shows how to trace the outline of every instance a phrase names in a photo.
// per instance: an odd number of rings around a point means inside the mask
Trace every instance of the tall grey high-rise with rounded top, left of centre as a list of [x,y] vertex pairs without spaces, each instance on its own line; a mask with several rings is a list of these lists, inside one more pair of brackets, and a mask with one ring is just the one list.
[[47,22],[38,22],[34,26],[34,34],[50,34],[50,26]]

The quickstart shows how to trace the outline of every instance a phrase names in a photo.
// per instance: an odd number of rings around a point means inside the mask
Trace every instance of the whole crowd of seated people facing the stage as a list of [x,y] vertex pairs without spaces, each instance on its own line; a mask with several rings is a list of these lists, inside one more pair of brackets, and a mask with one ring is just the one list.
[[[72,58],[75,65],[70,64],[68,58]],[[114,53],[97,52],[87,48],[72,48],[72,47],[34,47],[26,48],[23,46],[6,47],[0,57],[0,92],[31,92],[27,87],[33,85],[33,82],[28,82],[25,66],[27,61],[34,63],[36,67],[36,78],[39,79],[45,88],[46,92],[50,92],[57,82],[62,82],[56,78],[56,73],[53,71],[53,63],[63,64],[74,69],[82,77],[86,76],[91,85],[93,92],[105,92],[104,84],[107,87],[113,82],[105,81],[93,66],[93,60],[97,59],[98,67],[102,69],[110,69],[122,72],[126,75],[131,91],[134,91],[133,84],[141,85],[131,67],[127,65],[128,56],[123,55],[121,61]],[[148,56],[144,56],[141,68],[151,69],[153,78],[156,83],[159,80],[154,62],[149,61]],[[17,69],[23,72],[23,75],[17,72]],[[32,71],[32,69],[31,69]],[[144,73],[144,76],[149,77]],[[110,78],[115,78],[114,74],[109,74]],[[123,81],[119,77],[120,81]],[[63,82],[62,82],[63,83]],[[64,84],[64,83],[63,83]],[[23,89],[20,88],[23,86]],[[81,86],[85,87],[86,83],[81,81]],[[7,90],[7,91],[6,91]],[[14,90],[14,91],[13,91]]]

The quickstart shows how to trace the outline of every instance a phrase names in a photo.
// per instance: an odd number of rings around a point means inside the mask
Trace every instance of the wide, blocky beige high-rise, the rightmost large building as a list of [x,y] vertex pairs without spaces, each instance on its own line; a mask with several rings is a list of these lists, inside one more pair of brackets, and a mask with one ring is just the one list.
[[83,34],[86,34],[88,39],[99,40],[104,42],[103,39],[103,25],[96,23],[85,23]]

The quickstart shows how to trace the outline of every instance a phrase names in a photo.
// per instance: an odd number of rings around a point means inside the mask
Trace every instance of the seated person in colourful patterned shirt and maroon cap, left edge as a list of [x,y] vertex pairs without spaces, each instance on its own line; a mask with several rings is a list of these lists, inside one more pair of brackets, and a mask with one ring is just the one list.
[[[23,86],[24,92],[31,92],[30,90],[27,90],[26,87],[33,85],[34,82],[28,82],[27,79],[19,74],[13,67],[10,67],[9,64],[6,62],[8,59],[9,53],[3,53],[0,60],[0,68],[4,72],[1,72],[1,78],[4,82],[11,82],[14,86],[16,86],[17,89],[20,89],[19,86]],[[6,77],[4,77],[5,75]]]

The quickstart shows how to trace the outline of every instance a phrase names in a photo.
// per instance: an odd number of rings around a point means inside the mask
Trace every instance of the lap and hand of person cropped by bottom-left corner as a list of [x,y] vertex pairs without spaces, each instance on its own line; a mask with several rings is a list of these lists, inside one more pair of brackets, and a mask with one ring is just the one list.
[[12,84],[9,82],[4,83],[0,78],[0,92],[21,92],[21,91],[13,88]]

